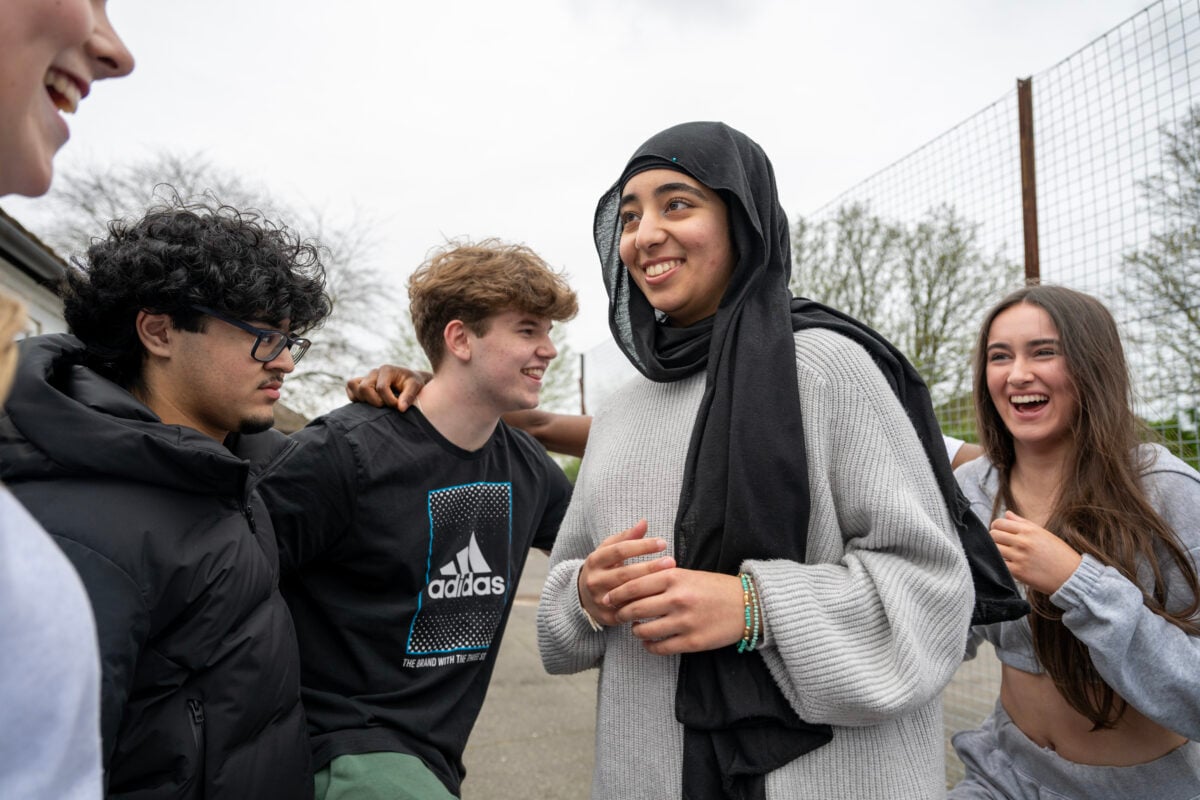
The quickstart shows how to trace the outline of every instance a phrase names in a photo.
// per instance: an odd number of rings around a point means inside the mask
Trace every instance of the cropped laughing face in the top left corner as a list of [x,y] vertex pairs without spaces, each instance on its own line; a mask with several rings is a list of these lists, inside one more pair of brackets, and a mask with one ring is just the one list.
[[91,84],[128,74],[133,56],[106,0],[4,0],[0,6],[0,196],[42,194]]

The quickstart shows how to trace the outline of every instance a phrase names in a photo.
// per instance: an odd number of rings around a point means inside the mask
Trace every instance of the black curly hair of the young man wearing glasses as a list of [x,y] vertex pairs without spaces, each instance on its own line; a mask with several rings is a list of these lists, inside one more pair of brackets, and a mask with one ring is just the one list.
[[84,263],[67,270],[61,291],[71,332],[88,348],[89,366],[125,387],[140,383],[145,349],[138,313],[170,317],[185,331],[203,331],[208,306],[293,332],[318,327],[332,311],[316,242],[218,203],[150,209],[137,222],[113,221],[94,240]]

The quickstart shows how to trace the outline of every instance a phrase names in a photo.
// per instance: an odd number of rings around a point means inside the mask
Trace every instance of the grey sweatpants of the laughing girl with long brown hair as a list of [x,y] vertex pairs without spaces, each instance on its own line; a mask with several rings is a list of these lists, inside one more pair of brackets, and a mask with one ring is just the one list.
[[978,730],[955,734],[966,777],[948,800],[1196,800],[1200,742],[1189,741],[1147,764],[1088,766],[1060,757],[996,710]]

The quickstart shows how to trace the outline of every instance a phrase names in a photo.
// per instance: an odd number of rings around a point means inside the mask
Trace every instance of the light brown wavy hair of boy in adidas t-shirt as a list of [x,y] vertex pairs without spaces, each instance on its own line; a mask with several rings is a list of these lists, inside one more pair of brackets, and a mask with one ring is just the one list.
[[560,272],[522,245],[497,239],[450,242],[408,278],[416,339],[434,369],[445,355],[445,326],[461,320],[475,336],[491,318],[518,311],[554,321],[575,317],[578,302]]

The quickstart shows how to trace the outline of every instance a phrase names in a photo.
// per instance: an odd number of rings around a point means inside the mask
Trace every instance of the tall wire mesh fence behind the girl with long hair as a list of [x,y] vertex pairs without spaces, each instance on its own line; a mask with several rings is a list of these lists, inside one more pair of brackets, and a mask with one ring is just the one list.
[[[1200,467],[1200,0],[1154,2],[1030,85],[1032,222],[1014,90],[797,218],[793,290],[888,336],[943,429],[974,440],[970,350],[985,309],[1024,282],[1032,228],[1042,282],[1109,306],[1139,414]],[[626,368],[612,345],[584,356],[589,410]],[[949,783],[962,769],[949,734],[982,722],[998,678],[989,652],[947,690]]]

